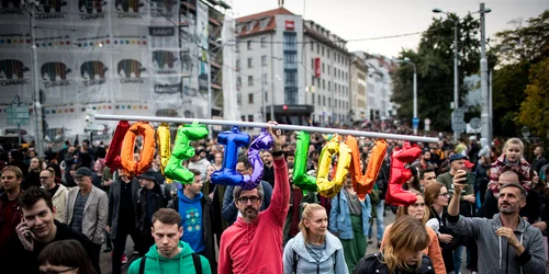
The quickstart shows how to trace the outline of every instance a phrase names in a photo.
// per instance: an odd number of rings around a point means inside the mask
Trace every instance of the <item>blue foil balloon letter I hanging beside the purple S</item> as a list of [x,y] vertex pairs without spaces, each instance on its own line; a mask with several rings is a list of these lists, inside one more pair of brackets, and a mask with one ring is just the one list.
[[243,183],[244,176],[236,172],[236,161],[238,148],[247,146],[249,139],[249,135],[240,133],[237,126],[233,126],[231,132],[223,132],[217,135],[217,142],[225,145],[225,155],[223,169],[212,173],[212,183],[224,185],[240,185]]

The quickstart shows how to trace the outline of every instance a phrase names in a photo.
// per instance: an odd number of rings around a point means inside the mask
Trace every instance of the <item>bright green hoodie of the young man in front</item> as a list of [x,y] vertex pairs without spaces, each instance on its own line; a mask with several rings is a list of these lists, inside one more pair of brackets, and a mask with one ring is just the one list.
[[[179,241],[179,248],[181,248],[181,252],[177,254],[173,258],[164,258],[160,254],[158,254],[158,251],[156,250],[156,244],[150,247],[148,252],[145,254],[145,258],[147,258],[145,262],[145,270],[144,273],[150,274],[150,273],[165,273],[165,274],[177,274],[177,273],[184,273],[184,274],[192,274],[194,272],[194,262],[192,261],[192,251],[191,247],[184,242],[184,241]],[[127,270],[128,274],[138,274],[139,273],[139,266],[141,266],[141,260],[143,258],[135,260],[132,265],[130,265],[130,269]],[[212,270],[210,269],[210,263],[204,256],[200,256],[200,263],[202,265],[202,273],[203,274],[211,274]]]

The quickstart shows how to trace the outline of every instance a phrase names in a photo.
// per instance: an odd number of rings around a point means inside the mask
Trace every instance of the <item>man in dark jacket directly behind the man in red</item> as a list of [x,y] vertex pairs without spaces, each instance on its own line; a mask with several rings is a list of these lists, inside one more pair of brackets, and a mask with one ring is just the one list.
[[[249,163],[247,157],[239,157],[237,159],[236,171],[243,175],[251,175],[254,173],[254,168]],[[267,181],[264,180],[261,180],[260,185],[264,189],[265,193],[264,198],[261,201],[261,207],[259,207],[259,212],[262,212],[267,209],[271,203],[272,186]],[[232,185],[226,187],[225,195],[223,196],[223,209],[221,212],[223,219],[225,219],[229,226],[236,221],[238,216],[240,216],[238,208],[234,203],[234,195],[233,195],[234,190],[235,186]]]

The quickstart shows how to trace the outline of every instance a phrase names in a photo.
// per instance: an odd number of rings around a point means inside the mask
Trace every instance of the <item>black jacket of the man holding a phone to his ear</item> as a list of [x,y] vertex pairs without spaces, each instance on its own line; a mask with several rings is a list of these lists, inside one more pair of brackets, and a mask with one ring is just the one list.
[[35,241],[33,251],[25,250],[19,240],[19,237],[16,235],[12,236],[5,244],[4,253],[0,255],[0,272],[2,274],[38,274],[38,254],[47,244],[60,240],[77,240],[82,244],[83,249],[88,253],[88,258],[91,260],[91,264],[96,271],[101,273],[99,262],[94,261],[94,249],[90,239],[57,220],[54,220],[54,224],[57,226],[57,233],[55,235],[55,238],[47,243]]

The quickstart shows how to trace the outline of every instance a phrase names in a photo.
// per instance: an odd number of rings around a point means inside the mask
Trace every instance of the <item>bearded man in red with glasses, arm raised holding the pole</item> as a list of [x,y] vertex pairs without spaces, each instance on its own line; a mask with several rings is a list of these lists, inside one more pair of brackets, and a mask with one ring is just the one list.
[[[269,122],[276,124],[276,122]],[[290,203],[288,167],[282,151],[280,130],[272,135],[272,157],[274,167],[274,190],[271,204],[259,212],[264,199],[261,184],[253,190],[234,190],[234,201],[242,217],[228,227],[221,237],[221,274],[282,273],[282,228]]]

